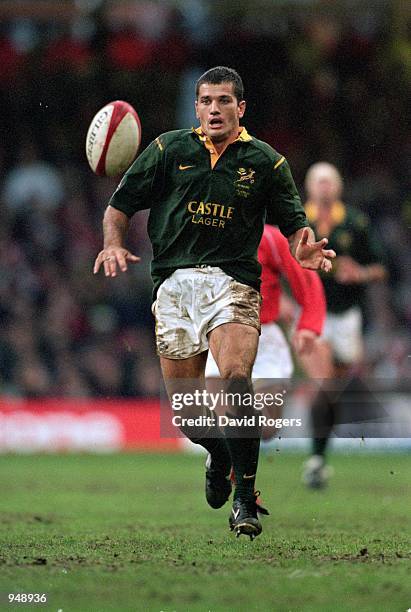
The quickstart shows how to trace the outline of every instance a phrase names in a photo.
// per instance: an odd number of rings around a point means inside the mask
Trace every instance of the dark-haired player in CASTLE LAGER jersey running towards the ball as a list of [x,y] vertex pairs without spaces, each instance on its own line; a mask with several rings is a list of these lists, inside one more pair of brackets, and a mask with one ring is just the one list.
[[[218,66],[204,73],[196,83],[200,126],[156,138],[126,172],[104,214],[104,248],[94,272],[103,267],[115,277],[139,261],[125,238],[134,213],[150,209],[156,344],[170,397],[182,381],[204,384],[209,348],[227,389],[252,392],[261,301],[256,253],[266,216],[301,266],[328,272],[335,257],[325,248],[328,240],[316,241],[309,228],[286,159],[240,126],[245,108],[235,70]],[[208,412],[204,406],[203,415]],[[232,466],[230,527],[237,536],[261,533],[254,495],[259,430],[239,427],[230,436],[211,426],[182,431],[210,454],[208,503],[219,508],[227,501]]]

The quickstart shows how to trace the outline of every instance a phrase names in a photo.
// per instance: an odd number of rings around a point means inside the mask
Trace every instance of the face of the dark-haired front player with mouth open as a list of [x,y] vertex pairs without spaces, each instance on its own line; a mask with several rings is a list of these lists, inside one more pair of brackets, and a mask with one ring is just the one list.
[[233,83],[203,83],[195,104],[201,129],[213,142],[221,143],[237,137],[245,102],[239,102],[235,97]]

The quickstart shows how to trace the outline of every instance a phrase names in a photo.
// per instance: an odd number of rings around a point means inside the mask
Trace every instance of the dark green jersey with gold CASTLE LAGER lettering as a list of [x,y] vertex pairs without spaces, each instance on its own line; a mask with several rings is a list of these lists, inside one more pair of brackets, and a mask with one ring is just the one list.
[[128,217],[150,208],[154,295],[175,270],[199,265],[259,289],[266,216],[285,236],[308,225],[287,161],[245,128],[220,157],[200,129],[159,136],[109,204]]

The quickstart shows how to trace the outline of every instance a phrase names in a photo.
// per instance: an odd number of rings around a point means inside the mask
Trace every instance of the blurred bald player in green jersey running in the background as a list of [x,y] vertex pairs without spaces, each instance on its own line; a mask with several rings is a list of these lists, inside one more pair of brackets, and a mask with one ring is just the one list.
[[[386,278],[385,267],[381,264],[382,254],[373,238],[368,217],[341,201],[343,182],[335,166],[326,162],[311,166],[305,188],[307,218],[317,233],[332,241],[338,258],[332,275],[322,278],[327,318],[317,349],[319,358],[314,362],[301,355],[301,361],[311,378],[346,378],[347,384],[350,379],[347,390],[364,392],[364,385],[355,376],[364,357],[362,306],[366,285]],[[333,425],[344,419],[343,406],[344,395],[340,395],[337,402],[335,395],[326,389],[320,389],[313,401],[312,456],[303,475],[306,484],[312,488],[326,483],[327,442]],[[363,406],[364,417],[365,410]]]

